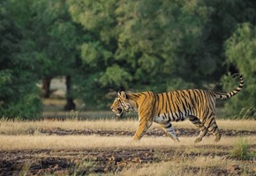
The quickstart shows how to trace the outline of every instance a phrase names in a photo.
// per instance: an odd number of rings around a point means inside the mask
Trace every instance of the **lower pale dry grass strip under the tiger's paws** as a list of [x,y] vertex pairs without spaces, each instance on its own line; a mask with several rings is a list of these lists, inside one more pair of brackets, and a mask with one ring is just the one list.
[[[256,136],[245,137],[249,145],[256,144]],[[169,137],[143,137],[140,142],[133,142],[130,136],[0,136],[0,150],[40,150],[40,149],[85,149],[109,147],[179,147],[200,145],[233,145],[238,137],[222,137],[214,143],[214,137],[205,137],[201,143],[193,143],[194,137],[180,137],[181,143],[174,143]],[[191,152],[188,148],[188,152]]]

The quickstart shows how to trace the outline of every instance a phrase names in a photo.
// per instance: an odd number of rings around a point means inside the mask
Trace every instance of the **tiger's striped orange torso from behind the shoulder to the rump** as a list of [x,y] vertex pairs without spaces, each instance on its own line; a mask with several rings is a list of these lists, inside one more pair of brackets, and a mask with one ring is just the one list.
[[184,121],[188,116],[203,118],[215,112],[215,93],[190,89],[155,95],[154,116],[170,121]]

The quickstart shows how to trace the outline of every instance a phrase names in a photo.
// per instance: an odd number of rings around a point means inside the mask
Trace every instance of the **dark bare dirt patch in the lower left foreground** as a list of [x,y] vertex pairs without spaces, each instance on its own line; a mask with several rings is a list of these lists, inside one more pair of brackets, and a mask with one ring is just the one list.
[[[158,156],[171,159],[172,150],[159,150]],[[78,174],[117,172],[132,164],[159,162],[153,149],[104,150],[19,150],[0,153],[2,175]]]

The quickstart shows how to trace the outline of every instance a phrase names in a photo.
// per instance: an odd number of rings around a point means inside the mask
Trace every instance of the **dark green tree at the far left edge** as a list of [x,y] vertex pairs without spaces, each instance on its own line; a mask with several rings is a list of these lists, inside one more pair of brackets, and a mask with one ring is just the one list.
[[11,1],[0,2],[0,115],[33,119],[42,110],[34,61],[26,57],[26,36],[12,12]]

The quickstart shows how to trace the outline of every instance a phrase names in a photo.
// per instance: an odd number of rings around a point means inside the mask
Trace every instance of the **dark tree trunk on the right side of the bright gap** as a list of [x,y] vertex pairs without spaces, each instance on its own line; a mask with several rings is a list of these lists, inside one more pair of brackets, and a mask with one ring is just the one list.
[[65,111],[71,111],[76,109],[76,104],[72,98],[72,77],[66,76],[66,105],[64,106]]

